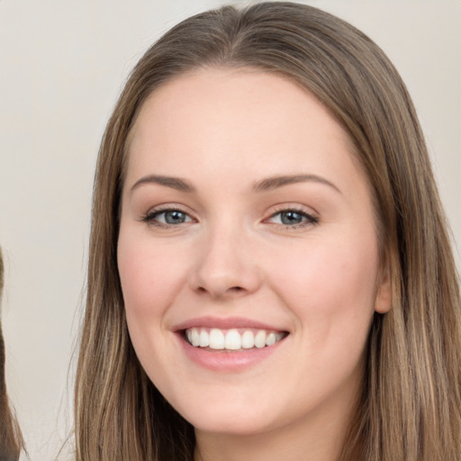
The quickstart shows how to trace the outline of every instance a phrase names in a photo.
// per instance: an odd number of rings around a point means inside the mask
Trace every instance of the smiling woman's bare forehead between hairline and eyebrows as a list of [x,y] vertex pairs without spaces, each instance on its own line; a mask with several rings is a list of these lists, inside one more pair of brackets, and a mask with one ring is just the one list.
[[129,176],[143,168],[169,175],[172,167],[176,176],[223,168],[231,176],[251,164],[271,176],[297,173],[314,158],[318,169],[338,159],[350,169],[355,157],[348,133],[311,93],[251,68],[200,69],[167,81],[142,105],[127,150]]

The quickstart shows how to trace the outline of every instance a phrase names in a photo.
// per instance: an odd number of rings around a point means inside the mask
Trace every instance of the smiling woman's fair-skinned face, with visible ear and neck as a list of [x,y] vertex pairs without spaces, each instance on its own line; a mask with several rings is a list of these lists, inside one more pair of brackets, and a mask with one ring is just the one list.
[[[258,70],[195,71],[143,104],[119,272],[133,346],[194,425],[196,460],[338,459],[390,297],[351,152],[312,95]],[[258,333],[274,334],[251,347]]]

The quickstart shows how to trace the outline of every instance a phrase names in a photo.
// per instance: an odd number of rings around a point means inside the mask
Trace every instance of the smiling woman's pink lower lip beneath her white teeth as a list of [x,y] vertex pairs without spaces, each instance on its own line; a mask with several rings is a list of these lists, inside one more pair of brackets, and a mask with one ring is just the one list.
[[207,348],[194,348],[182,336],[178,334],[185,355],[198,366],[212,371],[235,373],[243,371],[250,366],[257,366],[280,348],[285,342],[282,339],[272,346],[265,348],[251,348],[240,350],[210,350]]

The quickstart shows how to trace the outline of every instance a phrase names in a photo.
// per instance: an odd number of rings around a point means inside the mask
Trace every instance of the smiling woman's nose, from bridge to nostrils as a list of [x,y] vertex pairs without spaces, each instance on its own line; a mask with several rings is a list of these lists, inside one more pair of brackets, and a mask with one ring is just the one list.
[[256,292],[262,283],[262,274],[250,248],[249,239],[239,230],[203,236],[190,276],[194,291],[215,299]]

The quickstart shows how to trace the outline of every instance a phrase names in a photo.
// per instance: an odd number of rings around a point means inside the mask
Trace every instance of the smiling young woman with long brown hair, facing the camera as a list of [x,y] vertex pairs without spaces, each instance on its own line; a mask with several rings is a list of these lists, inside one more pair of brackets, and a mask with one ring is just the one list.
[[104,134],[77,459],[460,459],[459,307],[383,52],[305,5],[199,14]]

